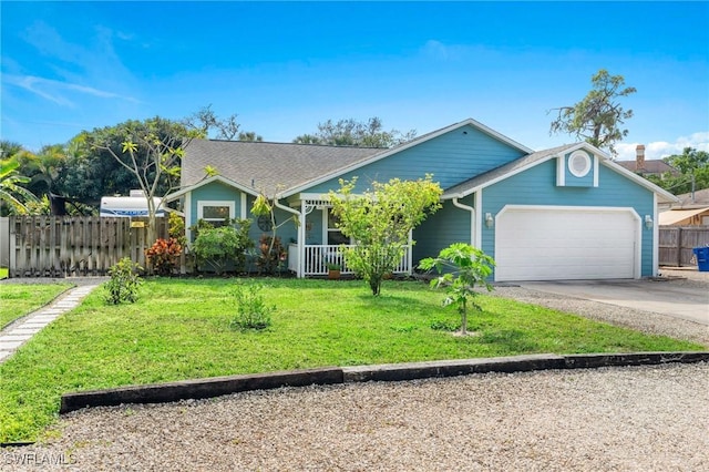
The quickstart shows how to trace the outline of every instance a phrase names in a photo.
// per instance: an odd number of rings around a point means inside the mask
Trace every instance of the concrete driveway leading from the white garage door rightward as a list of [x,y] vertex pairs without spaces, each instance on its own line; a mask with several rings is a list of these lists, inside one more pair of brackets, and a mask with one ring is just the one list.
[[709,284],[676,278],[521,281],[549,294],[653,311],[709,326]]

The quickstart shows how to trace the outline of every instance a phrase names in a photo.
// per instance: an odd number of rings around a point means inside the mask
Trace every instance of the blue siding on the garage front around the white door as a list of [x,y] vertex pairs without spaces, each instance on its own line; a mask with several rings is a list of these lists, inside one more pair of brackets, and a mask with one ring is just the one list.
[[[640,218],[654,214],[653,192],[603,164],[598,167],[598,187],[557,187],[556,162],[547,161],[483,189],[482,212],[496,215],[505,205],[563,205],[633,207]],[[653,275],[654,242],[653,229],[641,227],[640,275],[646,277]],[[494,230],[483,225],[483,250],[492,257],[495,256]]]

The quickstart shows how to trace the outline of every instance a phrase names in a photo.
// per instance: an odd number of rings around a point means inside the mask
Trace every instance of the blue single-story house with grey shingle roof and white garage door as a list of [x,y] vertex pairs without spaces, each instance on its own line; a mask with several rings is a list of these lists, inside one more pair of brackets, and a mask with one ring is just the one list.
[[[205,167],[219,174],[207,177]],[[657,204],[676,198],[587,143],[533,150],[465,120],[390,150],[195,140],[183,161],[186,225],[251,217],[255,197],[275,196],[278,228],[298,277],[327,274],[349,243],[327,194],[339,178],[417,179],[433,174],[442,208],[414,229],[398,271],[464,242],[495,258],[494,279],[639,278],[657,273]],[[254,224],[255,240],[268,222]],[[188,235],[191,237],[192,235]]]

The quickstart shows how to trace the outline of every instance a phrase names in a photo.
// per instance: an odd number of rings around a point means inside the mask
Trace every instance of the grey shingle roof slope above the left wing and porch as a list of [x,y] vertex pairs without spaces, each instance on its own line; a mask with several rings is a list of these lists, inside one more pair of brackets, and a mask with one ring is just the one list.
[[205,167],[209,165],[219,175],[244,187],[273,195],[277,189],[295,187],[383,151],[376,147],[194,140],[185,148],[182,186],[204,179]]

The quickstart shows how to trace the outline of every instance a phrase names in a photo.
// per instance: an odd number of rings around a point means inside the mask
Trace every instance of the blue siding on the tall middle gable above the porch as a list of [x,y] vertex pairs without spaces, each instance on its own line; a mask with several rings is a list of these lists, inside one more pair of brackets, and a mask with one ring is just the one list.
[[[361,192],[373,181],[389,182],[394,177],[415,181],[423,178],[428,173],[433,174],[433,179],[445,189],[522,155],[522,151],[473,126],[463,126],[346,173],[341,177],[350,181],[358,176],[358,191]],[[325,194],[330,189],[338,189],[338,178],[315,185],[305,192]]]

